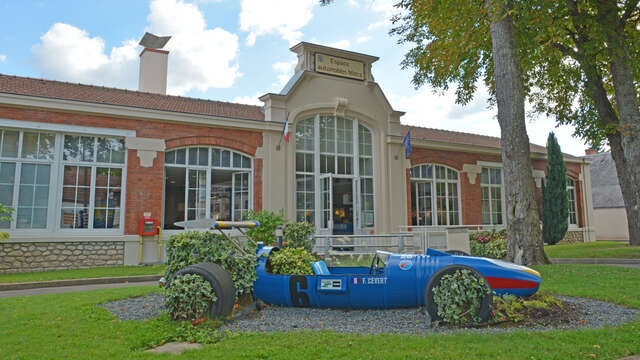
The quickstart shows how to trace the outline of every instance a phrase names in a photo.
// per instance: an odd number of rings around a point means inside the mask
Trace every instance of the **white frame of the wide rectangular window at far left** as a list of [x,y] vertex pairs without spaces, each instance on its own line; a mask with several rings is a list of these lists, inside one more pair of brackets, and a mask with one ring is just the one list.
[[[88,126],[78,126],[78,125],[66,125],[66,124],[51,124],[51,123],[41,123],[35,121],[22,121],[22,120],[11,120],[11,119],[0,119],[0,128],[18,131],[19,132],[19,143],[18,143],[18,157],[17,158],[7,158],[0,157],[0,161],[3,162],[13,162],[16,163],[16,169],[14,174],[14,196],[13,196],[13,204],[16,206],[11,206],[12,208],[17,208],[18,202],[18,194],[20,187],[20,175],[21,175],[21,164],[23,163],[38,163],[38,164],[49,164],[50,165],[50,173],[49,173],[49,198],[48,198],[48,206],[47,206],[47,220],[46,220],[46,228],[40,229],[18,229],[16,228],[16,215],[17,210],[14,211],[11,225],[9,229],[3,229],[4,231],[9,232],[10,234],[15,235],[27,235],[36,236],[36,235],[50,235],[51,233],[60,233],[60,234],[85,234],[91,233],[96,235],[108,235],[108,234],[124,234],[124,220],[125,220],[125,212],[126,212],[126,180],[127,180],[127,167],[128,167],[128,156],[127,156],[127,147],[125,143],[125,157],[123,164],[104,164],[104,163],[92,163],[92,165],[96,165],[96,167],[121,167],[122,168],[122,185],[121,185],[121,193],[120,193],[120,227],[117,229],[64,229],[60,227],[60,217],[61,217],[61,208],[62,208],[62,184],[63,184],[63,176],[64,176],[64,164],[63,161],[63,147],[64,147],[64,135],[79,135],[79,136],[92,136],[92,137],[108,137],[108,138],[122,138],[123,140],[126,137],[135,137],[136,132],[134,130],[120,130],[120,129],[109,129],[109,128],[98,128],[98,127],[88,127]],[[22,143],[25,132],[40,132],[40,133],[53,133],[55,134],[55,146],[54,146],[54,159],[53,160],[38,160],[38,159],[23,159],[22,155]],[[95,144],[96,140],[94,140]],[[97,151],[94,151],[94,158],[97,156]],[[79,165],[79,164],[78,164]],[[101,166],[103,165],[103,166]],[[92,177],[95,176],[95,170],[92,170]],[[95,180],[95,178],[93,179]],[[95,181],[92,183],[95,186]],[[90,216],[93,217],[93,194],[95,192],[95,187],[91,188],[91,198],[90,205],[91,211]]]

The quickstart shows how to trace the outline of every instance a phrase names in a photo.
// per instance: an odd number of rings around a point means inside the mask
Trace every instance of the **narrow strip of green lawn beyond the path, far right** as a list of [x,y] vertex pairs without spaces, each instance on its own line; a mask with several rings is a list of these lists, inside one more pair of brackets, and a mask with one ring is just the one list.
[[640,259],[640,246],[619,241],[595,241],[578,244],[547,245],[550,258],[618,258]]

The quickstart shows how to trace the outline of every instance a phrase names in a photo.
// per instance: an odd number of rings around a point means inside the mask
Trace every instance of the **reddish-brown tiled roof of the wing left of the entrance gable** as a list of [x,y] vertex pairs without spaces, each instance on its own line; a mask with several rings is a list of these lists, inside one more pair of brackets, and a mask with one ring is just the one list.
[[260,106],[0,74],[0,93],[264,121]]

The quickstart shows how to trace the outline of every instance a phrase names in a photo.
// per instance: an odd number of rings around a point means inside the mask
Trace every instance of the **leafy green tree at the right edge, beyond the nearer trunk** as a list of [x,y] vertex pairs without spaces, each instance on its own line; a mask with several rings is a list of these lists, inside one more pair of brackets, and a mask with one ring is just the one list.
[[530,0],[516,8],[530,100],[592,144],[608,143],[634,245],[640,245],[638,3]]

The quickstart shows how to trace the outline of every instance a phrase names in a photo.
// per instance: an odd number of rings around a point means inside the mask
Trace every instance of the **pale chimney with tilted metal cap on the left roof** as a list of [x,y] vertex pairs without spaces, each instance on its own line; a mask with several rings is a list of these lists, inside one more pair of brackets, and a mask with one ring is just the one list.
[[162,95],[167,93],[169,51],[162,48],[169,39],[171,36],[159,37],[145,33],[140,40],[140,45],[144,46],[144,49],[140,53],[139,91]]

